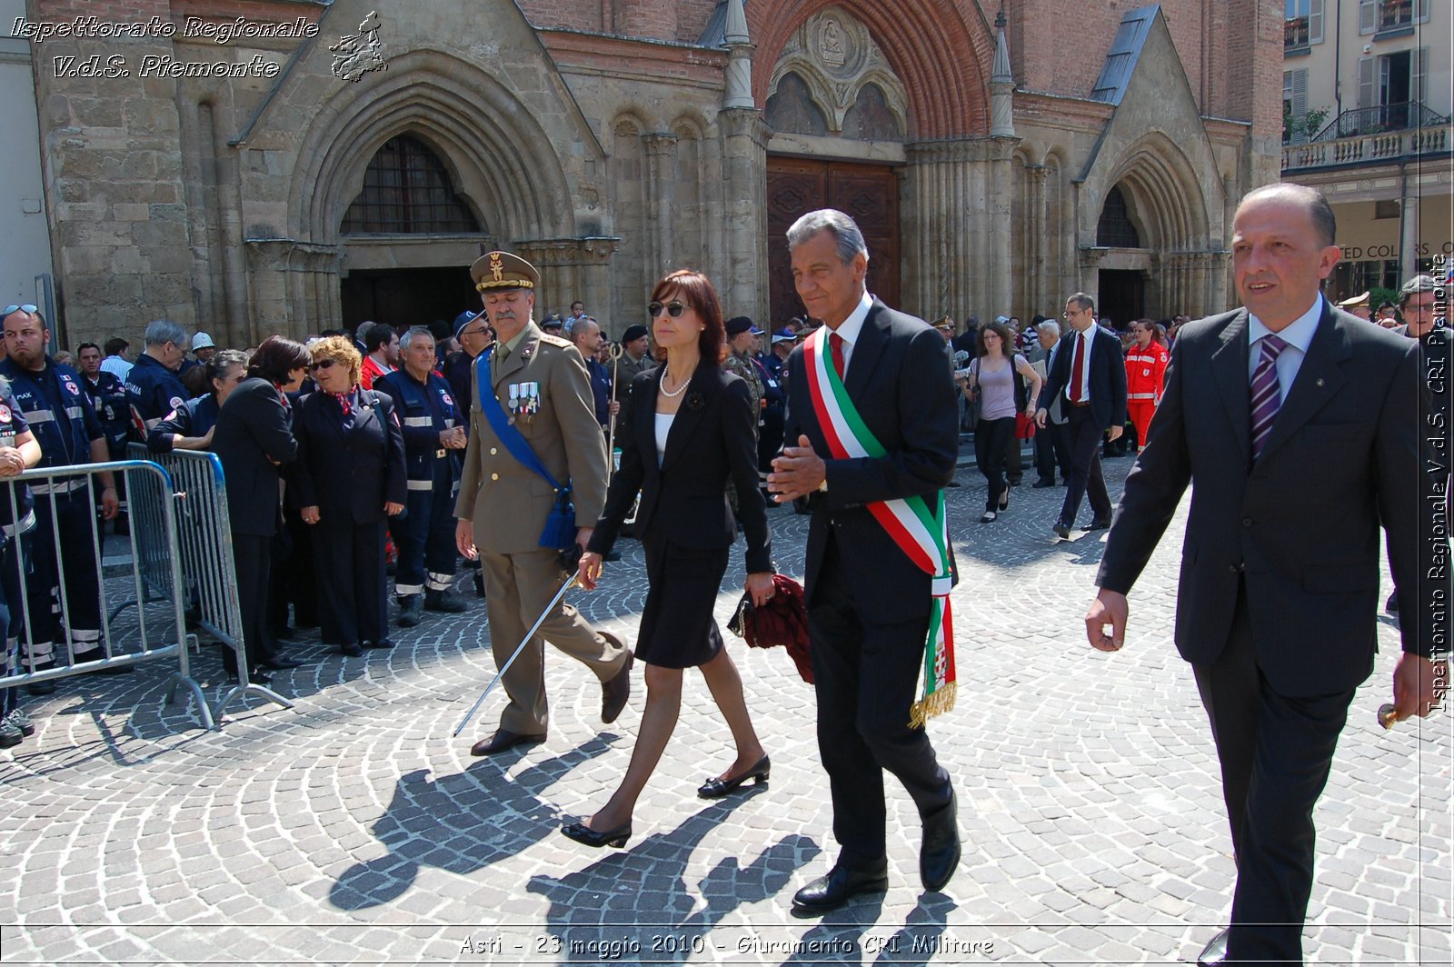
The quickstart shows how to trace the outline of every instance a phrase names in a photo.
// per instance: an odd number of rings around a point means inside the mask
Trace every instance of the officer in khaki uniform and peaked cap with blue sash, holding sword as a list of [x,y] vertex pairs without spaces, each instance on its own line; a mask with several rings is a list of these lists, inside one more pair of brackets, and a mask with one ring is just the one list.
[[[535,268],[507,252],[490,252],[475,260],[470,273],[497,343],[493,356],[475,369],[470,446],[455,505],[459,518],[455,541],[461,554],[478,553],[484,564],[490,644],[496,663],[503,666],[566,574],[558,548],[541,547],[557,503],[555,491],[541,474],[516,460],[491,416],[510,442],[516,446],[523,442],[557,483],[569,481],[576,544],[582,548],[605,505],[606,445],[580,352],[535,326],[532,313],[539,286]],[[484,406],[493,414],[484,413]],[[539,635],[505,673],[510,701],[499,730],[477,742],[471,755],[487,756],[545,740],[542,640],[583,662],[601,681],[602,721],[615,721],[625,708],[631,694],[631,653],[615,637],[592,628],[570,605],[557,605]]]

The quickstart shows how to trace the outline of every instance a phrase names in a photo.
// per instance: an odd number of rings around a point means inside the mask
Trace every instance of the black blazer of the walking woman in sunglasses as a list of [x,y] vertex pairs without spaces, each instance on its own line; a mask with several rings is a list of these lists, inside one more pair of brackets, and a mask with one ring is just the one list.
[[747,573],[772,570],[768,510],[758,478],[758,416],[742,377],[705,359],[656,462],[656,394],[666,366],[637,374],[631,382],[631,425],[618,433],[621,470],[611,478],[606,505],[590,535],[590,550],[606,554],[637,491],[635,528],[643,539],[664,535],[692,548],[731,547],[737,539],[727,481],[737,490],[737,513],[747,537]]

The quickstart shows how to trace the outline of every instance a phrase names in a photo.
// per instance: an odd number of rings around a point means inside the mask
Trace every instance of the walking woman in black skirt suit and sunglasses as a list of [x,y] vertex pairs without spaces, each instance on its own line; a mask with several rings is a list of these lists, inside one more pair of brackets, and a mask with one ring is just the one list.
[[635,531],[646,550],[648,590],[635,657],[646,663],[647,698],[631,765],[611,801],[561,832],[587,846],[624,846],[631,813],[651,778],[682,707],[682,669],[699,666],[737,745],[737,759],[698,790],[727,795],[746,779],[768,778],[768,756],[747,714],[742,678],[723,647],[712,608],[737,537],[727,481],[737,489],[747,535],[747,592],[772,598],[768,515],[758,489],[758,444],[747,384],[723,371],[721,304],[707,276],[679,270],[651,291],[659,369],[631,385],[631,425],[621,435],[621,471],[580,558],[577,577],[595,587],[602,558],[641,491]]

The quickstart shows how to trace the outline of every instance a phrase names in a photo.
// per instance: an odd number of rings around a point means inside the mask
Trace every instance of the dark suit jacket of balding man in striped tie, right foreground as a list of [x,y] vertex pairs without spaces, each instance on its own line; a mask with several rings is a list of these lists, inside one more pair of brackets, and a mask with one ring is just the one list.
[[1403,649],[1431,647],[1431,609],[1415,595],[1421,526],[1432,525],[1421,500],[1429,490],[1418,348],[1325,304],[1256,464],[1248,352],[1246,310],[1178,333],[1156,432],[1127,477],[1096,585],[1131,587],[1189,481],[1176,602],[1182,657],[1216,660],[1245,580],[1268,682],[1291,697],[1342,692],[1373,670],[1380,519]]

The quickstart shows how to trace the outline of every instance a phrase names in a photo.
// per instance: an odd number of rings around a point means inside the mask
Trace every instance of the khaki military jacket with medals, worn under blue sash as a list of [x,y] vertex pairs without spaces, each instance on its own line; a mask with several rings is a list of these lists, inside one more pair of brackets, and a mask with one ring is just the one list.
[[[493,393],[551,476],[570,480],[576,526],[595,526],[606,500],[606,441],[580,352],[534,321],[503,359],[502,352],[486,364],[489,384],[481,385],[475,371],[475,393]],[[484,551],[538,551],[555,493],[505,448],[480,410],[481,398],[471,406],[455,516],[474,521],[474,542]]]

